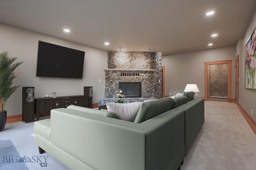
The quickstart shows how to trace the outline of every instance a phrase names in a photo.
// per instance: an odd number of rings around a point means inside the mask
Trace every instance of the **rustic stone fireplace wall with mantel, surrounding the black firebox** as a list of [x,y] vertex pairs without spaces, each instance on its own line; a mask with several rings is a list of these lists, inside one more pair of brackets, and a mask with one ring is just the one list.
[[119,82],[141,82],[142,98],[162,98],[162,53],[108,51],[105,98],[114,98]]

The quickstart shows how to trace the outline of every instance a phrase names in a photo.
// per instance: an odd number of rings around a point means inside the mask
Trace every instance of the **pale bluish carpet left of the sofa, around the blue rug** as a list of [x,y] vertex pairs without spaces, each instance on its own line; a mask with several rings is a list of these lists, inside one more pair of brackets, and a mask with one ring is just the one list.
[[[25,162],[29,170],[69,170],[66,166],[60,163],[58,160],[50,156],[47,152],[40,154],[38,151],[38,146],[35,144],[34,136],[34,122],[24,123],[16,122],[6,124],[3,131],[0,132],[0,140],[11,140],[14,147],[18,151],[20,157],[34,158],[33,162]],[[7,146],[6,146],[7,147]],[[14,156],[14,154],[8,154],[4,150],[0,149],[0,152],[4,152],[4,156]],[[1,154],[0,154],[1,155]],[[41,156],[41,157],[40,157]],[[44,157],[43,157],[44,156]],[[48,156],[48,157],[47,157]],[[40,158],[40,160],[37,160]],[[44,161],[44,158],[47,158]],[[40,161],[47,162],[46,166],[42,166]],[[14,166],[5,169],[1,168],[4,165],[4,160],[0,157],[0,170],[14,170]],[[20,162],[15,163],[17,166],[15,170],[23,170]]]

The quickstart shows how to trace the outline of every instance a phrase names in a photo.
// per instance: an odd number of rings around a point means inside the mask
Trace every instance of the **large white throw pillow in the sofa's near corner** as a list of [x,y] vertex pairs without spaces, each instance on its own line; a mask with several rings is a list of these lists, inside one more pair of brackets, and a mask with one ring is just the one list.
[[116,115],[116,119],[133,122],[142,102],[106,103],[108,111]]

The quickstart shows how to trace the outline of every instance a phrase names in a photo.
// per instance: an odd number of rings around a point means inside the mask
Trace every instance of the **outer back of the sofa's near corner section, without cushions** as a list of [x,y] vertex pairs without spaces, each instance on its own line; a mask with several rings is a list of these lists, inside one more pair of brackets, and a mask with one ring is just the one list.
[[[168,117],[173,118],[168,121]],[[184,125],[171,121],[174,117],[184,123],[182,111],[163,113],[138,124],[65,108],[52,109],[51,142],[94,169],[153,170],[163,162],[170,165],[171,156],[164,156],[177,154],[173,145],[181,145],[177,140],[182,143],[175,137],[177,131],[182,133]]]

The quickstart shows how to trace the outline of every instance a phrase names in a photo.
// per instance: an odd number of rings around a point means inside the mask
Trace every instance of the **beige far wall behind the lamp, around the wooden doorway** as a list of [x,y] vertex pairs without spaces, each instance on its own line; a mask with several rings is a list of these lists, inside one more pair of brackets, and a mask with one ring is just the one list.
[[204,63],[232,60],[231,98],[235,98],[236,47],[222,47],[162,56],[165,66],[165,95],[183,92],[186,84],[197,84],[198,97],[204,97]]

